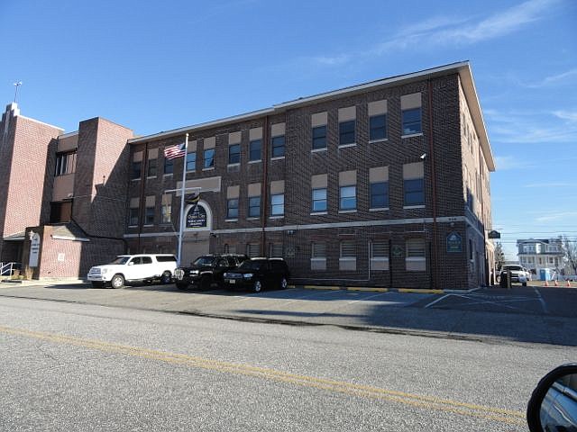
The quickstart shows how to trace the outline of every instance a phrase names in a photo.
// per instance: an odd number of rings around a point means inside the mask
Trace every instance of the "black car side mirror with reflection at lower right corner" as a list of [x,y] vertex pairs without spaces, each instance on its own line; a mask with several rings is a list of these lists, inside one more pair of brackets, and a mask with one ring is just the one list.
[[541,379],[527,404],[527,424],[531,432],[577,432],[577,364]]

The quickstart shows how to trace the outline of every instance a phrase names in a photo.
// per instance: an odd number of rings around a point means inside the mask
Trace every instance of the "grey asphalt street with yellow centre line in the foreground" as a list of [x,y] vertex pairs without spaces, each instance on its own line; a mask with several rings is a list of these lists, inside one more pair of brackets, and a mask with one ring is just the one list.
[[526,430],[577,348],[0,298],[0,430]]

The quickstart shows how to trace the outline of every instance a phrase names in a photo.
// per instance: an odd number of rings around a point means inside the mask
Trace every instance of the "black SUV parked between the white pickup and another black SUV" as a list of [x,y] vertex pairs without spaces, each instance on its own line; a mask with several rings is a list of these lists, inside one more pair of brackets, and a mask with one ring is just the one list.
[[199,286],[203,290],[212,284],[223,283],[224,272],[239,266],[249,259],[246,255],[203,255],[197,257],[189,267],[179,267],[174,271],[174,277],[179,290],[188,288],[188,285]]

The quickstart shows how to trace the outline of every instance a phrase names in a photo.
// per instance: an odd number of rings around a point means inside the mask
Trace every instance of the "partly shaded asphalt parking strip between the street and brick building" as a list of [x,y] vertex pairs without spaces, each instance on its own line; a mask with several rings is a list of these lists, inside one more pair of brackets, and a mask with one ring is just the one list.
[[443,338],[577,346],[577,289],[485,288],[414,293],[305,289],[180,291],[174,284],[95,289],[89,284],[0,284],[0,298],[75,302],[226,320],[331,325]]

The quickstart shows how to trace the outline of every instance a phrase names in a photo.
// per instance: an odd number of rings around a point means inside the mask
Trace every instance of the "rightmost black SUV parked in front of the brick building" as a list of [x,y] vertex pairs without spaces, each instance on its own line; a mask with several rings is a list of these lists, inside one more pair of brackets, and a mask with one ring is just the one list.
[[289,267],[281,258],[252,258],[224,274],[224,287],[259,293],[263,288],[287,288]]

